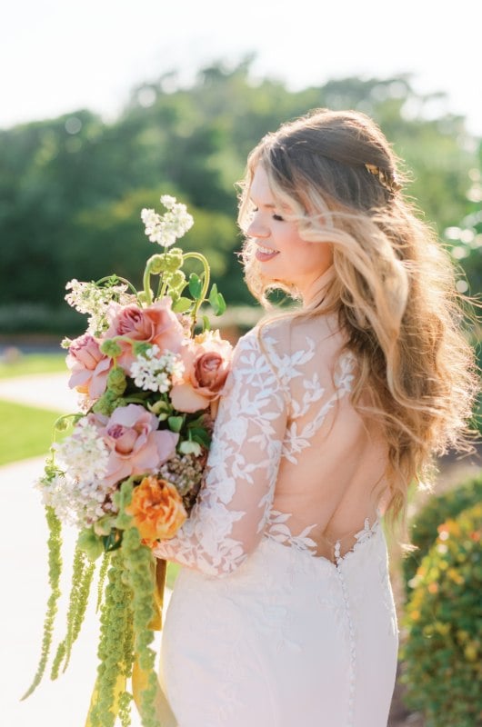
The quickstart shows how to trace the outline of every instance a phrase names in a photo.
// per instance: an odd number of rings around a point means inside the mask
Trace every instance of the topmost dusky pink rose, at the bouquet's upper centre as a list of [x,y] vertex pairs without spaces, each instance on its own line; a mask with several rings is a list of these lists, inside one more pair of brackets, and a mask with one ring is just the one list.
[[[171,310],[171,304],[171,299],[167,297],[147,308],[139,308],[136,304],[110,304],[107,311],[109,328],[105,338],[124,335],[134,341],[158,345],[161,354],[166,350],[179,353],[186,334]],[[118,364],[129,372],[130,364],[135,359],[132,348],[128,343],[118,343],[123,349],[123,354],[118,357]]]

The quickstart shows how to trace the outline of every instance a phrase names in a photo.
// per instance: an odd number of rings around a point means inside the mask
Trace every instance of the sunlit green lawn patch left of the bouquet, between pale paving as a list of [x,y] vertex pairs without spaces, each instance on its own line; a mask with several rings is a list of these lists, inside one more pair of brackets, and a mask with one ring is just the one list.
[[0,464],[48,453],[52,428],[61,413],[0,401]]

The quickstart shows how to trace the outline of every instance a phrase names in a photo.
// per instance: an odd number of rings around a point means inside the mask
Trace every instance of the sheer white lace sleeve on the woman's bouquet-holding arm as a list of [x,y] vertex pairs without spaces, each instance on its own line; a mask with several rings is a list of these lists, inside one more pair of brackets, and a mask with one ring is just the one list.
[[232,573],[261,540],[286,431],[286,399],[254,331],[239,339],[193,511],[157,557]]

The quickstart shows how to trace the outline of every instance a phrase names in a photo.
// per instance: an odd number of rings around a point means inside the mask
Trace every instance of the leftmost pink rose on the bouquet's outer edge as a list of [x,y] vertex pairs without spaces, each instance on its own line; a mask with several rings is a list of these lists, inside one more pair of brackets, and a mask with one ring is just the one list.
[[105,392],[111,359],[101,354],[94,336],[84,334],[70,344],[65,359],[71,371],[68,385],[89,399],[98,399]]

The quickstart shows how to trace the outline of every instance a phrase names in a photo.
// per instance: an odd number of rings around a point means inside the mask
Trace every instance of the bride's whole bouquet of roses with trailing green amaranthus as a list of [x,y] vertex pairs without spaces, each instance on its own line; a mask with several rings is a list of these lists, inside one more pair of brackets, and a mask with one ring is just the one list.
[[[204,255],[172,246],[194,223],[186,206],[168,195],[161,202],[165,214],[141,213],[151,242],[164,247],[146,263],[143,290],[116,275],[66,286],[67,303],[88,315],[85,334],[64,342],[79,412],[57,421],[64,438],[52,444],[37,484],[49,528],[51,595],[40,663],[25,697],[41,681],[51,652],[61,526],[74,524],[78,540],[65,638],[51,678],[68,665],[100,559],[99,665],[89,727],[111,727],[117,716],[123,727],[130,724],[133,697],[145,727],[155,727],[168,712],[149,645],[161,627],[166,563],[156,561],[152,548],[175,535],[196,502],[232,354],[206,315],[196,332],[201,304],[208,302],[216,315],[226,304],[216,284],[206,298]],[[203,264],[200,276],[186,277],[182,268],[189,258]]]

